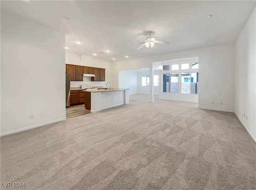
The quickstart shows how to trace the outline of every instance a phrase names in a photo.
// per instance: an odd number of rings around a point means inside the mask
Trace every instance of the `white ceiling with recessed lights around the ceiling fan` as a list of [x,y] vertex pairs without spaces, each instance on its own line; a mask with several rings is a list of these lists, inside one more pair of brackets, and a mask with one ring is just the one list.
[[[66,33],[70,53],[116,60],[235,42],[255,1],[2,1],[1,12]],[[211,18],[208,15],[212,14]],[[63,18],[66,16],[70,21]],[[141,48],[147,31],[170,42]],[[80,41],[78,45],[75,42]],[[54,45],[54,44],[53,44]],[[110,50],[106,53],[106,50]],[[104,54],[99,54],[104,52]],[[129,59],[128,58],[128,59]]]

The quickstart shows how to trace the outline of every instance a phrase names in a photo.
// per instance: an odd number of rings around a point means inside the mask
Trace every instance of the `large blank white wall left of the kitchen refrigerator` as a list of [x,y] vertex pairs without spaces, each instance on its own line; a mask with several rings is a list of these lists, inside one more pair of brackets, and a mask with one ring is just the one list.
[[1,12],[1,135],[65,120],[64,47],[64,33]]

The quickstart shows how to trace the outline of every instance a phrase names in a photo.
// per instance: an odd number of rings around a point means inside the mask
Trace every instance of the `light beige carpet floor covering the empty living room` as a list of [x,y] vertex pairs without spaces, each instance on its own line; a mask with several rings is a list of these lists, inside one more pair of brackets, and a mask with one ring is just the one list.
[[234,113],[130,99],[1,137],[1,182],[29,190],[256,188],[256,143]]

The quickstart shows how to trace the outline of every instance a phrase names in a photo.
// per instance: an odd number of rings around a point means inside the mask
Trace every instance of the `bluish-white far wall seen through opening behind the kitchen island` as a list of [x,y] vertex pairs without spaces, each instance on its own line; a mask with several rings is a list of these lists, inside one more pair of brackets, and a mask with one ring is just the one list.
[[134,70],[119,71],[118,88],[128,88],[129,95],[138,93],[138,74]]

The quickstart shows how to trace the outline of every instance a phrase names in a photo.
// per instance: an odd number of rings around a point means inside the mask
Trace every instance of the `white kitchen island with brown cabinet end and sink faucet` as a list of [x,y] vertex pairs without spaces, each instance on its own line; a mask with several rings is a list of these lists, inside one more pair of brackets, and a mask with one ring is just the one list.
[[98,112],[103,109],[129,103],[129,89],[86,89],[84,92],[85,109],[91,112]]

